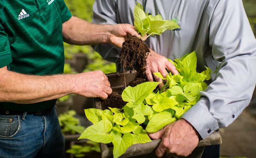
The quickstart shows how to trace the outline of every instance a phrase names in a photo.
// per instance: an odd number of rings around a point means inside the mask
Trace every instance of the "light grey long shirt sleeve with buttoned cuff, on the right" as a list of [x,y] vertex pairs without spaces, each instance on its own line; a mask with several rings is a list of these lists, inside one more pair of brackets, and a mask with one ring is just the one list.
[[182,116],[202,138],[231,124],[255,88],[256,40],[242,1],[218,2],[210,18],[209,45],[221,65],[202,98]]

